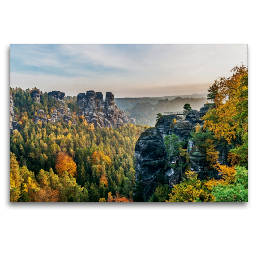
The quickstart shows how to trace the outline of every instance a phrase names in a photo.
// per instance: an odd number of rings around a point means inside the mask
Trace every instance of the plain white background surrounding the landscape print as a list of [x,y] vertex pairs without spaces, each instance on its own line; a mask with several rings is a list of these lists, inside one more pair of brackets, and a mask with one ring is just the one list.
[[[254,255],[252,1],[1,2],[2,255]],[[249,67],[249,203],[10,204],[9,44],[243,43]],[[220,60],[221,61],[221,60]],[[239,64],[239,63],[238,63]],[[254,107],[253,107],[254,106]],[[253,115],[253,116],[252,116]],[[254,120],[253,120],[254,119]]]

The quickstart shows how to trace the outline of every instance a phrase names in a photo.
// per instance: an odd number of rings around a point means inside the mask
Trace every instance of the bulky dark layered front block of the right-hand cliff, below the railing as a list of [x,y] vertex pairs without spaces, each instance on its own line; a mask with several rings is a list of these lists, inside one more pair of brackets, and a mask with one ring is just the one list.
[[[174,119],[177,120],[175,124]],[[171,167],[177,159],[168,156],[164,137],[174,133],[180,140],[187,140],[191,129],[190,122],[174,114],[162,116],[154,128],[149,128],[141,134],[135,145],[135,177],[138,179],[141,173],[146,198],[152,195],[159,182],[170,187],[180,182],[181,171]]]

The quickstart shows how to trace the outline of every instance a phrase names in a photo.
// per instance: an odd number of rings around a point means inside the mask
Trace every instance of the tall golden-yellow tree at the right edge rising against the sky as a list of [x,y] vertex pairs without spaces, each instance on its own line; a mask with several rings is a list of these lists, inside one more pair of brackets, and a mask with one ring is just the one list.
[[243,65],[236,66],[231,70],[233,76],[229,78],[220,77],[215,80],[212,87],[215,88],[215,104],[216,108],[209,110],[203,120],[205,120],[204,128],[209,128],[214,132],[216,139],[224,138],[228,144],[232,140],[236,140],[237,131],[247,131],[247,116],[237,118],[237,106],[240,102],[247,100],[245,93],[248,89],[246,83],[242,82],[242,78],[247,76],[247,68]]

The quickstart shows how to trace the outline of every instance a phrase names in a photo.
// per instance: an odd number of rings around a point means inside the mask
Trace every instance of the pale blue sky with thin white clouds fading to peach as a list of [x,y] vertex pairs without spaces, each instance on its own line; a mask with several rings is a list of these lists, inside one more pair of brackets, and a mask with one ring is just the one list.
[[10,44],[10,86],[116,98],[207,93],[247,44]]

